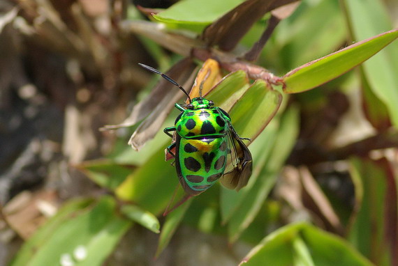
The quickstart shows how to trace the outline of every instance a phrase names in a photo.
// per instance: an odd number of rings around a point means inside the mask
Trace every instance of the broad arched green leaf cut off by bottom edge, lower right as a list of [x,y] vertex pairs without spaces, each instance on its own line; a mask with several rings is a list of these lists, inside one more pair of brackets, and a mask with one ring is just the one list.
[[264,238],[240,265],[371,266],[340,237],[309,224],[290,224]]

